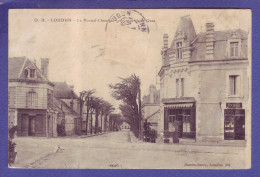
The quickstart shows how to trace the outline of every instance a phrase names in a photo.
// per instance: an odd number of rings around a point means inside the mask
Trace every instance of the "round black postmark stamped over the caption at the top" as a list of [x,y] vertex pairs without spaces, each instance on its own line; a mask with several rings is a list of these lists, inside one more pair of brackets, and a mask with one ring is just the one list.
[[138,12],[137,10],[123,10],[114,13],[108,19],[105,26],[105,31],[109,29],[109,24],[111,23],[117,23],[122,27],[149,33],[149,26],[147,25],[147,20],[145,19],[143,14]]

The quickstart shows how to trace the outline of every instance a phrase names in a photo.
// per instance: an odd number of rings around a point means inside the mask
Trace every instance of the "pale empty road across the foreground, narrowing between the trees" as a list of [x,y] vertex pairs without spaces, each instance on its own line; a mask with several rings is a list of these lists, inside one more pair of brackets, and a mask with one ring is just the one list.
[[[22,144],[20,151],[37,148],[53,149],[26,168],[243,168],[243,147],[199,147],[152,143],[131,143],[129,131],[112,132],[84,139],[36,139]],[[60,148],[58,148],[58,146]],[[210,149],[210,148],[214,148]],[[20,152],[20,153],[21,153]]]

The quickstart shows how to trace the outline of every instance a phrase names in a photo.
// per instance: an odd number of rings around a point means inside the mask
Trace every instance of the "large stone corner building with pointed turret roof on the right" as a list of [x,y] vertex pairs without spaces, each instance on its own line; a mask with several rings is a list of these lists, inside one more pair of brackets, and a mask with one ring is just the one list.
[[197,34],[190,16],[180,18],[168,43],[163,36],[160,76],[161,135],[221,142],[247,140],[250,133],[248,33],[215,31],[214,23]]

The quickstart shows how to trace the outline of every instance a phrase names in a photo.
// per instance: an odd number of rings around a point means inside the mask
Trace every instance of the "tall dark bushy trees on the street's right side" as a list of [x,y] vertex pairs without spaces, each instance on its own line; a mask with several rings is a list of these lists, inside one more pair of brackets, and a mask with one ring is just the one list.
[[119,109],[125,122],[130,125],[130,130],[136,137],[141,137],[141,82],[135,74],[127,78],[119,78],[120,82],[110,84],[112,96],[121,100]]

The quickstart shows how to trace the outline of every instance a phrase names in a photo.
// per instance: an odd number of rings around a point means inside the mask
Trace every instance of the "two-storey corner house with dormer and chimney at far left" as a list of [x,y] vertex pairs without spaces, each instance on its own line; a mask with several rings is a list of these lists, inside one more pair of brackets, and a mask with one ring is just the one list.
[[25,57],[8,59],[8,125],[17,125],[18,136],[57,136],[48,65],[46,58],[41,59],[41,70]]

